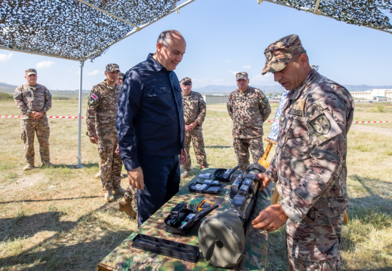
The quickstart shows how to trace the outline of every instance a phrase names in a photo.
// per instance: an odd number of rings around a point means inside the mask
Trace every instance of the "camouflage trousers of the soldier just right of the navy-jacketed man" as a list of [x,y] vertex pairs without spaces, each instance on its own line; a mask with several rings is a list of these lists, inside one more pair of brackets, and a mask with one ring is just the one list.
[[194,127],[193,130],[189,132],[185,132],[185,150],[188,154],[188,158],[186,163],[182,165],[184,170],[190,170],[191,161],[190,161],[190,142],[192,141],[194,154],[196,155],[196,160],[198,161],[198,165],[200,169],[208,168],[207,164],[207,155],[204,150],[204,138],[203,138],[203,128],[199,125]]

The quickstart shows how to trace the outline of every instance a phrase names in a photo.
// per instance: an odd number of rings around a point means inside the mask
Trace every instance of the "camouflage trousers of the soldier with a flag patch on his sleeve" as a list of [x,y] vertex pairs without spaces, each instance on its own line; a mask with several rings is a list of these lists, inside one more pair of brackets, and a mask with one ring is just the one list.
[[116,133],[98,136],[98,152],[100,154],[101,180],[104,190],[116,189],[121,183],[122,161],[114,151],[117,148]]

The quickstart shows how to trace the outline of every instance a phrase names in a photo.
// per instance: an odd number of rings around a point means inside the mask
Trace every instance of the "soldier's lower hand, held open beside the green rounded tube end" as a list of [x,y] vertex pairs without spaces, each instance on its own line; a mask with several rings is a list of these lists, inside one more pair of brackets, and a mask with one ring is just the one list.
[[259,213],[259,216],[252,221],[253,228],[267,232],[278,230],[286,223],[288,216],[283,211],[280,204],[266,207]]

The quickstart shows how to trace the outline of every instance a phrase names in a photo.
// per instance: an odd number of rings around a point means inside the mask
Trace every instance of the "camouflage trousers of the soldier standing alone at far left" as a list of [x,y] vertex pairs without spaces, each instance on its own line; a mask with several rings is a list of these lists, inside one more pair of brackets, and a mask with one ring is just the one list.
[[41,162],[50,162],[49,134],[50,128],[46,116],[38,120],[20,120],[20,134],[24,142],[24,159],[26,163],[34,164],[34,135],[37,133]]

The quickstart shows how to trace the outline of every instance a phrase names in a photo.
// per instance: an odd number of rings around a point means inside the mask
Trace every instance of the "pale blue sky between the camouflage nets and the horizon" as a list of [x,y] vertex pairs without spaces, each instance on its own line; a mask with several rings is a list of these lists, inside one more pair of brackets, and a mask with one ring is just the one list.
[[[112,46],[94,62],[87,60],[83,89],[102,82],[108,63],[122,72],[155,52],[167,29],[180,31],[187,48],[176,73],[191,77],[193,88],[235,85],[234,74],[246,71],[250,85],[274,85],[261,75],[264,49],[289,34],[300,36],[310,63],[340,84],[392,85],[392,35],[257,0],[196,0]],[[38,70],[38,83],[49,89],[78,89],[79,62],[0,50],[0,82],[26,82],[24,70]]]

